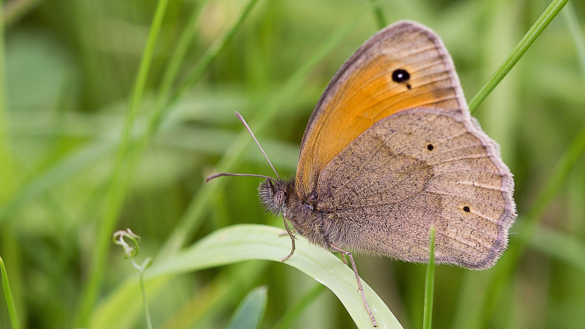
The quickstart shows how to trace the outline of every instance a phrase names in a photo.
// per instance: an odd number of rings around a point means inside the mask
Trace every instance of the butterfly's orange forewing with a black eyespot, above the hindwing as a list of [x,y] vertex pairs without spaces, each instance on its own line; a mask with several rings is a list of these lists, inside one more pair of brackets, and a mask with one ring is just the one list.
[[[398,69],[407,71],[409,79],[394,81]],[[402,21],[364,43],[321,96],[301,145],[297,193],[311,193],[327,163],[374,122],[415,107],[460,111],[467,104],[439,36]]]

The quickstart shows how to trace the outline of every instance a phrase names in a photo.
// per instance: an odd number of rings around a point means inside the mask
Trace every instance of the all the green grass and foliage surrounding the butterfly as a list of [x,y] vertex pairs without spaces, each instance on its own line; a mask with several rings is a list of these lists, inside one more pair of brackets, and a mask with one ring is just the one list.
[[[566,1],[9,4],[0,33],[0,254],[13,303],[0,303],[0,327],[18,310],[24,328],[72,328],[85,299],[88,327],[145,328],[139,275],[109,250],[112,231],[127,227],[143,237],[141,253],[158,255],[144,272],[154,328],[226,328],[262,285],[261,328],[354,328],[352,318],[367,327],[355,277],[331,253],[301,240],[308,253],[292,266],[253,261],[290,251],[287,237],[260,234],[281,229],[233,226],[282,225],[261,210],[256,179],[202,180],[219,170],[271,174],[234,111],[278,172],[293,176],[326,83],[398,19],[435,29],[466,94],[480,91],[470,108],[502,146],[521,215],[493,269],[436,266],[433,327],[583,327],[583,1],[555,20]],[[243,228],[254,229],[243,236]],[[212,240],[225,232],[230,239]],[[311,265],[315,258],[333,272]],[[418,328],[430,318],[423,265],[356,262],[380,321],[386,314],[399,327],[393,313]],[[97,283],[87,290],[90,277]]]

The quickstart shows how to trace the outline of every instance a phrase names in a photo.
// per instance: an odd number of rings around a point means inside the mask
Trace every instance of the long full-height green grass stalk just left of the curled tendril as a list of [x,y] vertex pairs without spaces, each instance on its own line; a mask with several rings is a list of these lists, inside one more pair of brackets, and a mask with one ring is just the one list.
[[111,186],[108,197],[106,199],[106,211],[104,218],[102,218],[101,225],[98,232],[97,248],[92,261],[92,269],[88,285],[84,290],[81,307],[78,313],[77,323],[82,327],[88,324],[91,309],[95,304],[98,296],[99,286],[104,276],[105,258],[109,246],[109,237],[113,231],[116,219],[118,218],[119,210],[122,204],[126,184],[128,184],[128,177],[125,172],[125,158],[126,153],[130,148],[133,126],[136,115],[139,110],[140,100],[146,85],[146,78],[150,69],[150,61],[152,60],[154,45],[156,44],[157,36],[160,32],[160,26],[163,22],[164,12],[166,11],[168,0],[159,0],[154,19],[150,27],[149,36],[140,62],[140,68],[136,77],[136,84],[130,104],[128,105],[128,112],[126,114],[126,121],[122,129],[122,138],[120,140],[118,155],[111,177]]

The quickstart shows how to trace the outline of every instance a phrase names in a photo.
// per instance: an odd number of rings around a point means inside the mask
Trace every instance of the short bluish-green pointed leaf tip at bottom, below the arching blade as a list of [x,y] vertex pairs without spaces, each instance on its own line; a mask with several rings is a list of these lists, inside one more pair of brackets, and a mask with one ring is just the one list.
[[266,310],[268,287],[260,286],[252,289],[229,321],[228,329],[256,329]]

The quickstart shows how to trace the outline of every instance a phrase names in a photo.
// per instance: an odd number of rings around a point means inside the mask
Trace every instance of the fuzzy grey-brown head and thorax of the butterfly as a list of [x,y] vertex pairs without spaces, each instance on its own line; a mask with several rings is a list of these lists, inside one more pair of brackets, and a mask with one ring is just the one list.
[[267,211],[283,215],[294,230],[316,245],[329,248],[329,229],[331,214],[318,209],[318,195],[298,196],[294,189],[294,180],[266,180],[258,187],[260,201]]

